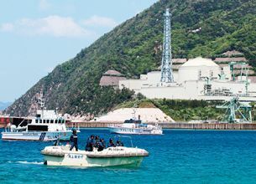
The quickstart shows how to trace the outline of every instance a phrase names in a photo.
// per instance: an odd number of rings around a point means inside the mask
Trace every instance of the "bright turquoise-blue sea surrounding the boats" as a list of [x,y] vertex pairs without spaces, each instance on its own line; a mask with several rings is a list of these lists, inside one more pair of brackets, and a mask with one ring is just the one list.
[[[132,135],[149,151],[134,167],[44,166],[40,151],[50,142],[0,141],[0,183],[256,183],[256,131],[164,130],[165,135]],[[87,136],[107,130],[84,129]],[[123,140],[128,144],[128,140]]]

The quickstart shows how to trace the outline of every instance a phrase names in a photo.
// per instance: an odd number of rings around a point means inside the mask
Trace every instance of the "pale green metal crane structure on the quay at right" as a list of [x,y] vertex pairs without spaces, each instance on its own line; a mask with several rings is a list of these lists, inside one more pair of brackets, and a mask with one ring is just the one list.
[[223,120],[228,123],[252,123],[252,106],[242,103],[238,97],[233,97],[223,105],[217,105],[218,109],[226,109]]

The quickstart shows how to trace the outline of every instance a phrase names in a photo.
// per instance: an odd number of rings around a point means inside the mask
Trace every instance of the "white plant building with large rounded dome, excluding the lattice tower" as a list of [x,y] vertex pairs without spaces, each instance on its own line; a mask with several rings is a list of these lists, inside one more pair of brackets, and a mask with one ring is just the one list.
[[189,59],[173,75],[175,83],[161,83],[160,71],[141,74],[140,79],[120,80],[119,89],[133,89],[149,99],[229,100],[240,95],[241,100],[256,101],[256,83],[246,90],[246,78],[231,81],[229,67],[221,68],[212,59]]

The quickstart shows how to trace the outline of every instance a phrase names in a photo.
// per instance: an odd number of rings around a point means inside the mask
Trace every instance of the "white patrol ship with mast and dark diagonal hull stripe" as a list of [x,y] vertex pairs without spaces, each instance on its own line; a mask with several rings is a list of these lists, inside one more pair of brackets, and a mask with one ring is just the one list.
[[72,130],[65,126],[65,118],[58,115],[56,110],[45,110],[44,100],[40,101],[41,110],[31,122],[18,125],[8,125],[2,132],[2,139],[7,141],[68,141]]

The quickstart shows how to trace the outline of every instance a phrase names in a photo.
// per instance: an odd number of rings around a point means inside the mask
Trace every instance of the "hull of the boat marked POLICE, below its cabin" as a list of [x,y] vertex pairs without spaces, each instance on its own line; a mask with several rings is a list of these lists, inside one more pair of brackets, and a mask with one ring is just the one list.
[[136,134],[136,135],[162,135],[163,130],[149,130],[140,128],[109,127],[112,134]]

